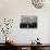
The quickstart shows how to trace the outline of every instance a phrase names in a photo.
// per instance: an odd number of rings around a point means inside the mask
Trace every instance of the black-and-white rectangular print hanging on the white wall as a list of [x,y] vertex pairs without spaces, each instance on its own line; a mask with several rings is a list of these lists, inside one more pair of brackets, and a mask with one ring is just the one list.
[[22,16],[20,28],[37,28],[37,16]]

